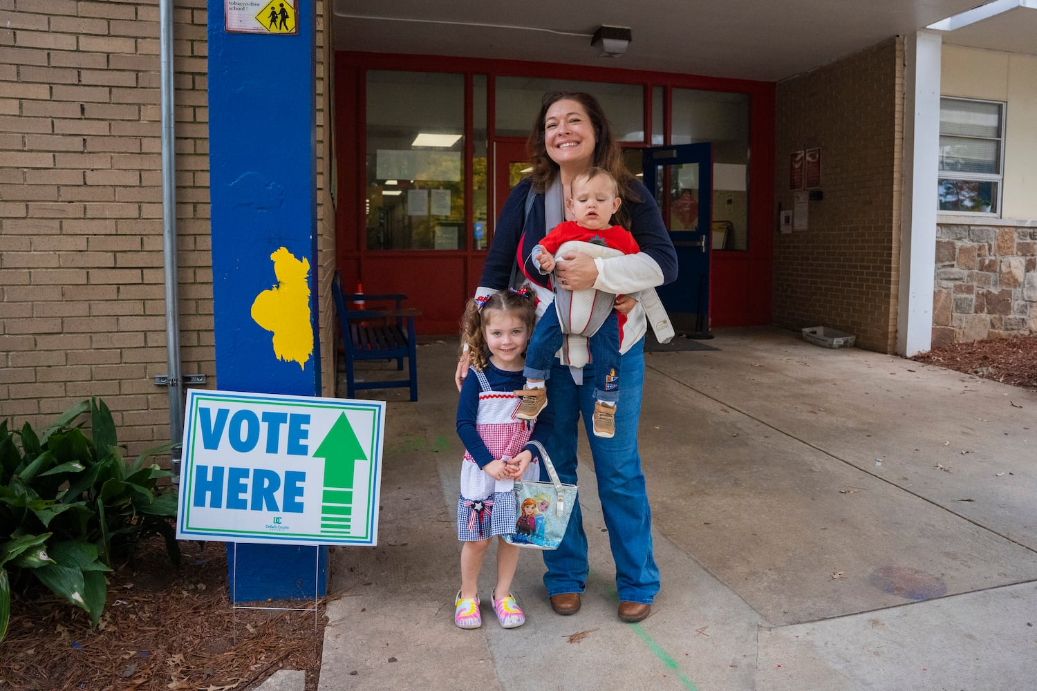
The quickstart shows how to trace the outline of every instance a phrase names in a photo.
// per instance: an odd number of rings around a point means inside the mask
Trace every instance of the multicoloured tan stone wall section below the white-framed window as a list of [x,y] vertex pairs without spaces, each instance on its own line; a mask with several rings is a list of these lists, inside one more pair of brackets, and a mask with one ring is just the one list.
[[940,224],[932,346],[1037,334],[1037,228]]

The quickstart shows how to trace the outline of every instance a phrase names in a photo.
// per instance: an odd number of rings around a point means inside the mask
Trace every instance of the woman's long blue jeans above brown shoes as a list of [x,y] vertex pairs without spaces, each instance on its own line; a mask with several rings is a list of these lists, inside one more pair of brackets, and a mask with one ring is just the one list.
[[[548,406],[554,410],[555,432],[545,444],[564,483],[577,483],[577,424],[583,414],[597,478],[597,495],[609,528],[609,543],[616,563],[616,591],[625,602],[651,603],[658,593],[658,567],[652,558],[651,510],[645,477],[638,455],[638,420],[644,387],[644,342],[622,355],[623,387],[616,407],[616,435],[594,436],[594,390],[577,386],[568,367],[555,362],[548,383]],[[584,368],[584,380],[593,380],[594,365]],[[582,490],[581,490],[582,493]],[[583,497],[586,500],[586,496]],[[583,593],[587,586],[587,534],[580,502],[572,510],[562,544],[543,552],[548,595]]]

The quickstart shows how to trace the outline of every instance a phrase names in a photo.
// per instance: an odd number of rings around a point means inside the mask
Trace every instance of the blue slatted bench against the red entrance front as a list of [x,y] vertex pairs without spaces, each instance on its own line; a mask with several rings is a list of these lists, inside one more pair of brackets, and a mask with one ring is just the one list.
[[[414,336],[414,318],[421,316],[419,310],[404,309],[402,293],[381,295],[342,293],[342,279],[338,271],[332,280],[332,296],[338,316],[339,333],[345,350],[346,398],[356,398],[359,388],[395,388],[409,386],[411,400],[418,400],[417,341]],[[394,310],[356,309],[357,304],[395,303]],[[353,306],[353,309],[351,309]],[[409,364],[407,379],[381,381],[358,380],[355,364],[363,359],[395,359],[396,370],[403,370],[403,361]]]

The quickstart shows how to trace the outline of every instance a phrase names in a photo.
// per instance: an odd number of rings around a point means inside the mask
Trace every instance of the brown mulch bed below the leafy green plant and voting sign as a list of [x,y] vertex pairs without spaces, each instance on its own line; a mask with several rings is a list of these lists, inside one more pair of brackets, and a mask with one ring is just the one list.
[[[245,691],[279,669],[316,691],[327,622],[310,612],[231,609],[222,542],[181,542],[173,567],[161,540],[109,574],[96,631],[46,588],[15,596],[0,642],[0,691],[199,689]],[[309,607],[313,602],[262,603]]]

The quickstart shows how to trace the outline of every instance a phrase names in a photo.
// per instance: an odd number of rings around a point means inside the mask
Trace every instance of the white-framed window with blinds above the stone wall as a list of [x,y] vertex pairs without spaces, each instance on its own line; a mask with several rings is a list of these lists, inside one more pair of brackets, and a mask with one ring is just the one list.
[[941,98],[940,210],[1000,213],[1004,152],[1005,104]]

